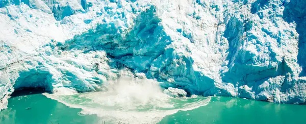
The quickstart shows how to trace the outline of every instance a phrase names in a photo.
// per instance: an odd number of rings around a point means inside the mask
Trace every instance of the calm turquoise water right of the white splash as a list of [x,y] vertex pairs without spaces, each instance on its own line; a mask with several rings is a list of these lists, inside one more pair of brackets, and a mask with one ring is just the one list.
[[306,123],[306,105],[213,97],[207,106],[179,111],[160,123]]

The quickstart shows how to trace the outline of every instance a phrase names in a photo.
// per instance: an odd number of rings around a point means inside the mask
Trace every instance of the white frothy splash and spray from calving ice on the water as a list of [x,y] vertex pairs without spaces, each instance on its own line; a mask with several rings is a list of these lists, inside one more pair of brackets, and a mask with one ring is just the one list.
[[111,82],[106,91],[67,93],[61,89],[44,95],[69,107],[81,108],[80,114],[97,114],[101,123],[157,123],[166,115],[205,106],[211,100],[196,95],[186,97],[184,90],[168,91],[159,85],[154,80],[124,76]]

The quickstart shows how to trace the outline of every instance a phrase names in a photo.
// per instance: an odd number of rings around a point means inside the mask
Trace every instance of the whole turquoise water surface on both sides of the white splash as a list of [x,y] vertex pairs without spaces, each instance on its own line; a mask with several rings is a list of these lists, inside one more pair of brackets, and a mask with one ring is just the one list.
[[[179,101],[177,101],[179,102]],[[41,94],[15,96],[0,112],[0,123],[104,123],[96,115],[65,106]],[[165,116],[160,123],[305,123],[305,105],[273,104],[242,98],[212,97],[197,109]],[[108,123],[108,122],[106,122]],[[124,122],[123,122],[124,123]]]

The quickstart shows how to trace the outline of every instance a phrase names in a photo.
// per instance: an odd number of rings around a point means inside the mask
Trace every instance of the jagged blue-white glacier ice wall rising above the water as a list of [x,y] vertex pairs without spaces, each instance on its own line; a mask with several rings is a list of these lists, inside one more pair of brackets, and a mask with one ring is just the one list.
[[305,6],[302,0],[0,0],[0,108],[24,87],[105,90],[122,68],[184,95],[305,104]]

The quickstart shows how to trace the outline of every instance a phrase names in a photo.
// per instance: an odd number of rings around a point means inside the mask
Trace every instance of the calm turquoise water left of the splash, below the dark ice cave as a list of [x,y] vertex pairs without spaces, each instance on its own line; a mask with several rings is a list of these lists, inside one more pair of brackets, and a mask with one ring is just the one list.
[[96,115],[80,116],[81,109],[65,106],[42,94],[29,94],[9,99],[8,109],[0,112],[3,124],[98,123]]

